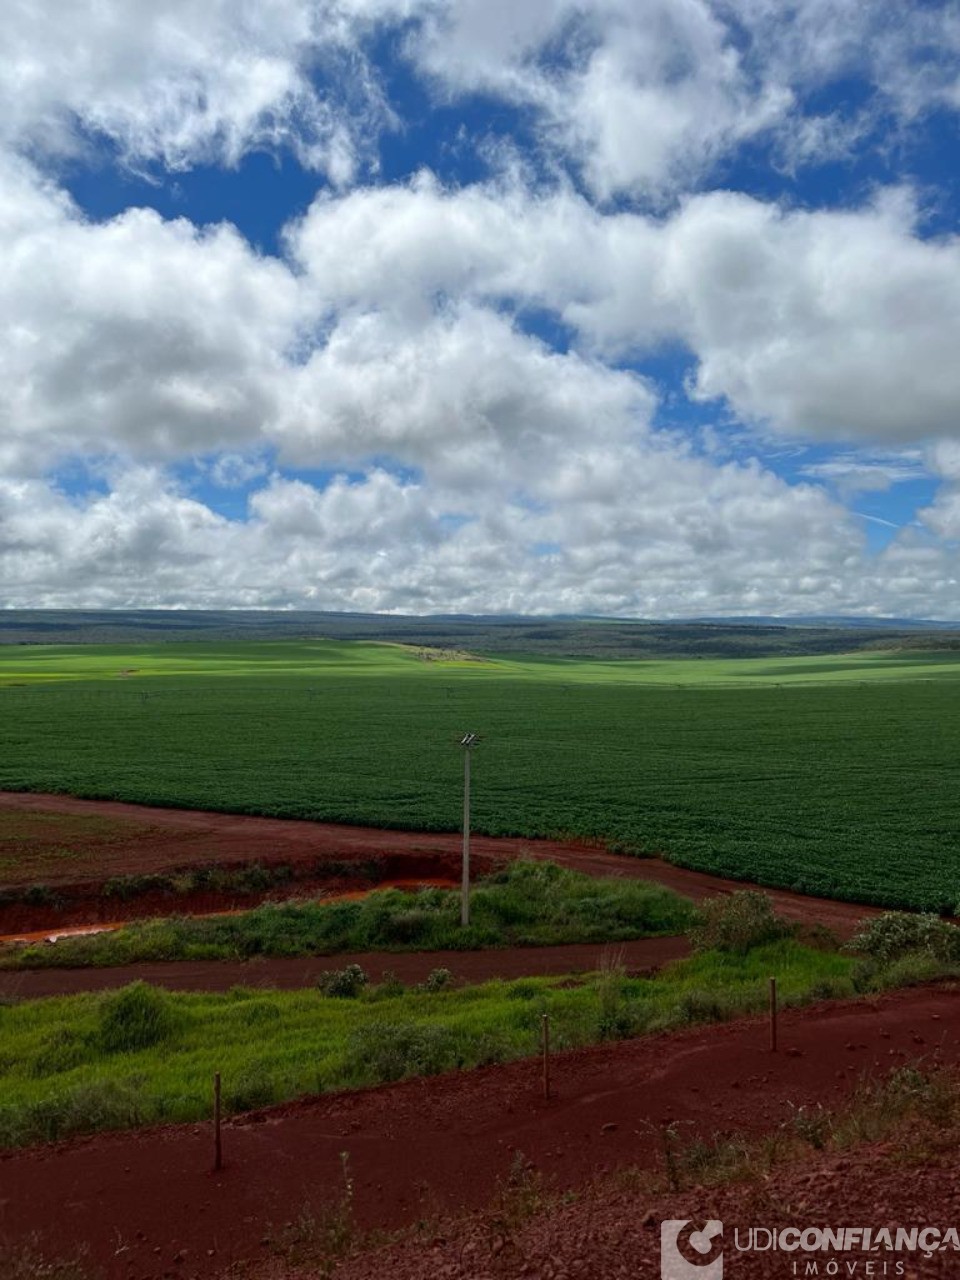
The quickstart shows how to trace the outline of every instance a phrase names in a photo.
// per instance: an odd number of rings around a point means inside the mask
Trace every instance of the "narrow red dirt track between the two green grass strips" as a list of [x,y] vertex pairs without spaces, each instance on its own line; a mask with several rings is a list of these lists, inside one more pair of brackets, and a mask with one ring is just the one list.
[[0,1000],[40,1000],[79,991],[109,991],[129,982],[150,982],[170,991],[229,991],[269,987],[294,991],[312,987],[325,969],[358,964],[371,982],[393,974],[404,983],[422,982],[433,969],[449,969],[457,982],[591,973],[605,957],[628,974],[659,969],[690,952],[685,938],[637,938],[632,942],[579,942],[557,947],[504,947],[485,951],[365,951],[356,955],[293,959],[184,960],[124,965],[115,969],[19,969],[0,972]]

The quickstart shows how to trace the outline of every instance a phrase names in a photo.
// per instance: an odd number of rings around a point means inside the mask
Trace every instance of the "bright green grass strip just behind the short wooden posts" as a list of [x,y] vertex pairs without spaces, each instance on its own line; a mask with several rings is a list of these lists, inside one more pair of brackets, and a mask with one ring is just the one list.
[[785,940],[746,956],[710,952],[654,978],[616,968],[571,986],[529,978],[480,987],[109,995],[0,1006],[0,1143],[210,1114],[215,1071],[228,1111],[301,1093],[430,1075],[554,1048],[760,1011],[776,973],[786,1002],[852,991],[854,961]]

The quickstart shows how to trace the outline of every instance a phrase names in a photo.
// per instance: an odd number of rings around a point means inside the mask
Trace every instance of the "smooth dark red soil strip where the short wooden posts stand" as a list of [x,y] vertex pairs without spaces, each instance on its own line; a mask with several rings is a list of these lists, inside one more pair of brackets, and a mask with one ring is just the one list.
[[[216,1174],[209,1125],[8,1153],[0,1158],[0,1240],[10,1249],[33,1235],[50,1256],[86,1248],[108,1280],[206,1280],[243,1260],[269,1260],[284,1226],[335,1203],[343,1152],[361,1228],[486,1206],[518,1152],[545,1190],[579,1189],[621,1167],[657,1166],[668,1124],[685,1138],[767,1132],[797,1106],[836,1106],[859,1080],[893,1066],[957,1064],[959,1016],[956,988],[914,989],[787,1011],[776,1055],[763,1020],[557,1055],[549,1101],[535,1060],[303,1100],[228,1124]],[[954,1202],[955,1190],[952,1175]],[[868,1194],[861,1187],[861,1206]],[[918,1212],[940,1208],[916,1204]],[[643,1217],[646,1207],[635,1212]],[[581,1239],[579,1256],[590,1248]],[[637,1270],[609,1274],[650,1275],[653,1256],[649,1242],[644,1270],[628,1258]],[[362,1274],[481,1280],[494,1272]],[[586,1270],[526,1274],[600,1280],[608,1272],[590,1261]]]

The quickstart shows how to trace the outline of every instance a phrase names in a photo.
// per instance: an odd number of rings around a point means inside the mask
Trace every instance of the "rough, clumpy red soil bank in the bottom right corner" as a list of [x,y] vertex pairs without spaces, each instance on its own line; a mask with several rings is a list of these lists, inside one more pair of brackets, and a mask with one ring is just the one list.
[[[607,1178],[572,1204],[544,1207],[520,1222],[497,1211],[448,1221],[403,1243],[362,1253],[338,1267],[335,1276],[337,1280],[660,1280],[660,1224],[672,1219],[699,1228],[709,1221],[722,1224],[717,1245],[727,1280],[956,1277],[960,1254],[952,1243],[931,1257],[909,1245],[890,1253],[882,1245],[878,1252],[865,1252],[861,1242],[854,1240],[842,1251],[754,1248],[756,1228],[773,1230],[778,1244],[780,1233],[787,1228],[805,1231],[824,1226],[869,1228],[874,1240],[884,1226],[893,1240],[899,1226],[908,1231],[933,1228],[942,1242],[950,1228],[960,1225],[960,1181],[954,1167],[956,1138],[956,1126],[948,1135],[931,1135],[923,1128],[918,1133],[908,1126],[882,1143],[842,1153],[810,1155],[755,1180],[745,1178],[713,1189],[644,1196],[626,1190],[622,1178]],[[759,1236],[764,1245],[768,1239],[767,1234]],[[792,1243],[786,1238],[787,1245]],[[812,1270],[806,1270],[808,1265]],[[264,1280],[311,1276],[296,1263],[256,1270]],[[687,1280],[691,1272],[698,1274],[691,1267],[685,1274]]]

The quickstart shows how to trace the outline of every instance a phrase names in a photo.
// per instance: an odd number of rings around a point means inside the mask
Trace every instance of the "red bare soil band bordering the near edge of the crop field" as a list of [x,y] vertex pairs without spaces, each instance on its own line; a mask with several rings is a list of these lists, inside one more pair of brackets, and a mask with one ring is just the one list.
[[[379,878],[396,876],[438,876],[458,867],[460,836],[444,832],[384,831],[371,827],[334,826],[330,823],[297,822],[278,818],[251,818],[238,814],[218,814],[188,809],[154,809],[145,805],[116,801],[76,800],[68,796],[32,795],[27,792],[0,792],[0,814],[23,814],[35,822],[56,822],[54,849],[44,852],[37,845],[33,828],[35,855],[3,858],[0,847],[0,883],[26,884],[42,882],[58,892],[67,892],[70,884],[83,884],[84,902],[72,911],[60,911],[51,923],[68,920],[79,923],[114,918],[122,904],[116,899],[104,902],[99,888],[111,877],[146,876],[173,872],[186,867],[261,863],[279,863],[311,867],[320,861],[334,864],[339,876],[335,887],[349,887],[351,863],[357,869],[364,864],[364,874],[379,868]],[[14,841],[10,841],[12,846]],[[68,846],[69,858],[58,858],[56,851]],[[577,841],[506,840],[489,836],[471,838],[471,858],[477,872],[502,865],[515,858],[540,858],[562,867],[586,872],[590,876],[628,876],[666,884],[694,900],[731,893],[744,884],[701,872],[673,867],[659,858],[630,858],[605,852]],[[14,873],[15,872],[15,873]],[[348,883],[349,882],[349,883]],[[328,882],[334,887],[333,882]],[[306,891],[307,886],[302,886]],[[301,892],[301,886],[297,886]],[[767,890],[778,914],[804,923],[819,923],[849,936],[865,915],[877,914],[876,908],[854,902],[836,902],[828,899],[808,897],[786,890]],[[274,891],[275,896],[276,891]],[[69,897],[69,895],[68,895]],[[136,900],[134,900],[136,901]],[[244,899],[247,904],[252,901]],[[170,914],[183,910],[184,904],[172,906],[168,900],[150,901],[152,914]],[[236,905],[233,900],[221,906]],[[136,908],[142,914],[146,908]],[[197,910],[214,910],[209,902]],[[29,911],[18,908],[15,923],[6,927],[6,916],[0,913],[0,933],[13,933],[29,928],[45,928],[47,919],[36,906]],[[100,914],[97,914],[100,913]],[[104,915],[108,913],[108,915]],[[28,916],[24,923],[20,916]],[[10,920],[14,916],[10,915]]]

